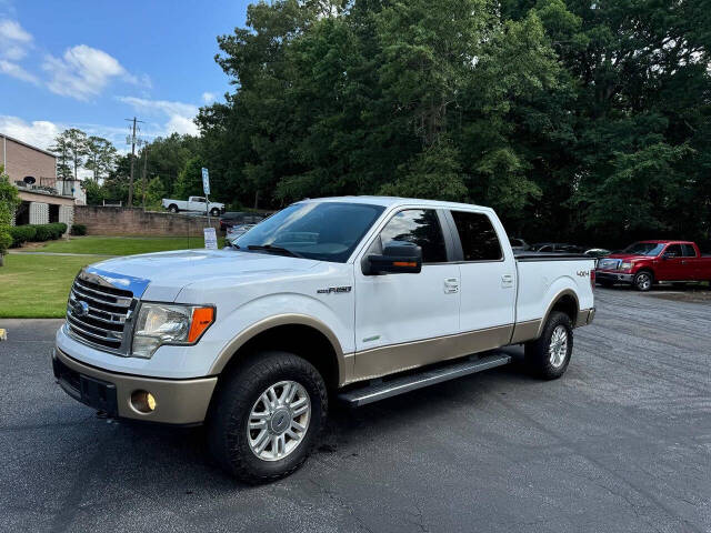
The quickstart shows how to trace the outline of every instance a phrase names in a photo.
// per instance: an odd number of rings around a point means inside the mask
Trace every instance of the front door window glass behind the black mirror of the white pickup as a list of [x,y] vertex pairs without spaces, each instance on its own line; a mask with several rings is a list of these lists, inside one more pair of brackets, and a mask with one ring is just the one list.
[[383,247],[391,241],[412,242],[422,249],[423,263],[447,262],[447,248],[437,213],[431,209],[408,209],[395,214],[380,232]]

